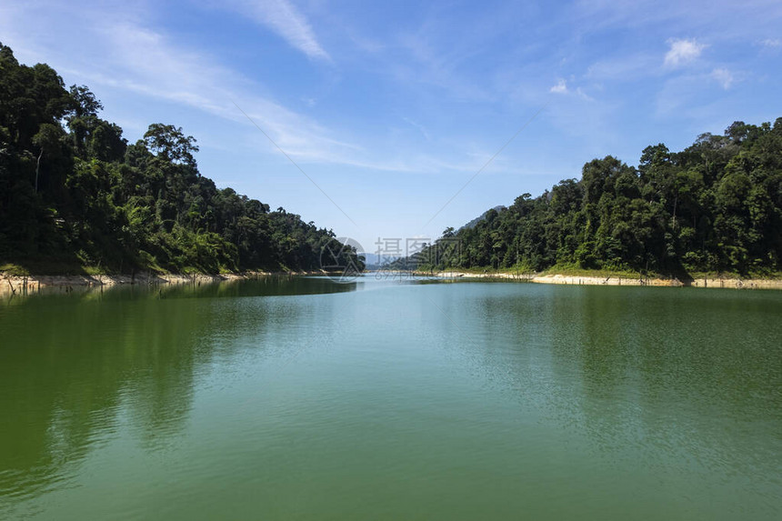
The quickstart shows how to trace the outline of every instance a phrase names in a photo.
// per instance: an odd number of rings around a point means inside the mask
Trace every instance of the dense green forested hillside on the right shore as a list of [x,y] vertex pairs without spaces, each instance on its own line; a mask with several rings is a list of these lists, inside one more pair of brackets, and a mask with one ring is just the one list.
[[[782,118],[736,122],[681,152],[607,156],[420,255],[426,268],[588,268],[687,276],[782,270]],[[458,239],[458,240],[455,240]]]

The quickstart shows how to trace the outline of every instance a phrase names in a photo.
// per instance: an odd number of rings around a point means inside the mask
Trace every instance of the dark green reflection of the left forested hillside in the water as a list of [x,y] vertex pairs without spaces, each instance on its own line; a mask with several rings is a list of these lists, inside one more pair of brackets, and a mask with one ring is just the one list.
[[[115,287],[16,297],[0,306],[0,514],[63,486],[87,452],[127,421],[146,450],[175,443],[197,376],[232,342],[265,346],[266,321],[296,323],[306,305],[252,296],[354,291],[328,279],[267,277],[241,284]],[[209,297],[209,298],[203,298]]]

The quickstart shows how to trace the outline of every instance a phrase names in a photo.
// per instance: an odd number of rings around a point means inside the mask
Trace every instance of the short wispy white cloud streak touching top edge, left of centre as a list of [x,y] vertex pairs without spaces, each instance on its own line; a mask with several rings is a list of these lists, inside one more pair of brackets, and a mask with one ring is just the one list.
[[285,38],[288,44],[310,58],[330,60],[331,57],[318,43],[312,26],[307,22],[296,5],[289,0],[256,0],[236,4],[236,8],[277,35]]

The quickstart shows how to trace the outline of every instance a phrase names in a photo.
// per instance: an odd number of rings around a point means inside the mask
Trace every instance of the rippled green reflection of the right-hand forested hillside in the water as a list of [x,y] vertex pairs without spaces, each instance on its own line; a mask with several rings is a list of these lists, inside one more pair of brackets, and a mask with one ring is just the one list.
[[617,467],[739,475],[772,500],[782,466],[778,294],[495,287],[460,319],[481,339],[473,359],[523,406],[586,436],[583,450]]

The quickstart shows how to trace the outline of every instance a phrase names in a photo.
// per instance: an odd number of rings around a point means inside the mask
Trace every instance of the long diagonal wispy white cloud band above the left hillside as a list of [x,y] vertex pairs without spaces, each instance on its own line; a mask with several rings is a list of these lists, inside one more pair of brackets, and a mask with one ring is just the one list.
[[[59,14],[56,9],[65,7],[52,9]],[[3,43],[19,49],[17,57],[23,62],[31,59],[49,62],[65,76],[66,83],[85,83],[99,96],[101,92],[111,92],[120,99],[126,96],[129,100],[165,101],[235,124],[226,126],[231,134],[211,137],[208,126],[195,129],[192,124],[187,126],[186,130],[201,141],[202,149],[208,141],[211,148],[230,143],[235,147],[240,144],[250,155],[280,154],[236,108],[238,105],[286,155],[302,165],[348,165],[416,174],[475,172],[480,167],[477,159],[465,154],[464,149],[456,157],[451,149],[392,153],[385,142],[378,145],[374,135],[356,137],[346,129],[296,112],[265,92],[264,85],[221,64],[219,55],[180,44],[171,35],[149,25],[142,15],[115,16],[122,21],[112,24],[107,22],[111,17],[105,10],[83,11],[73,24],[67,25],[71,32],[57,34],[49,25],[41,23],[35,11],[10,11],[0,6],[0,14],[4,13],[13,16],[0,17]],[[44,21],[54,23],[57,19],[52,16]],[[42,36],[29,36],[30,28],[38,26]],[[9,30],[5,31],[6,28]],[[85,41],[91,44],[85,47]],[[303,103],[308,101],[305,98]],[[197,121],[197,116],[190,114]],[[107,116],[114,117],[109,113]],[[145,123],[134,120],[136,132],[143,132]]]

